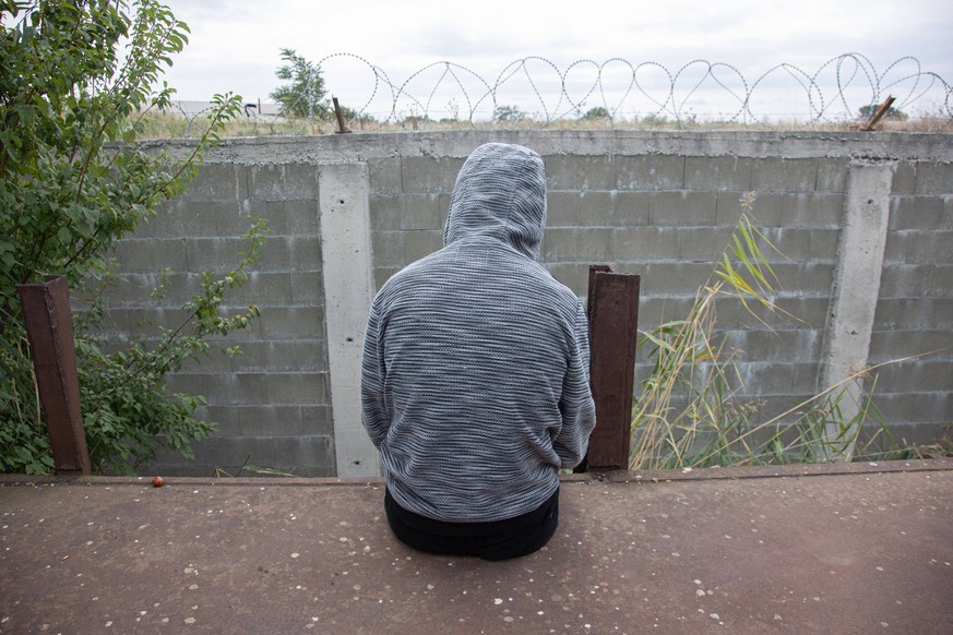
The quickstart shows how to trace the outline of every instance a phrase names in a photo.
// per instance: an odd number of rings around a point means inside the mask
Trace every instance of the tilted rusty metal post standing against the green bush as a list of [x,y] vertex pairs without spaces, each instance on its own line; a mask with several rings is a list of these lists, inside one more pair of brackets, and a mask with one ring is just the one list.
[[70,315],[70,290],[62,276],[39,285],[17,285],[36,384],[58,472],[90,474],[90,453],[80,412],[80,380]]

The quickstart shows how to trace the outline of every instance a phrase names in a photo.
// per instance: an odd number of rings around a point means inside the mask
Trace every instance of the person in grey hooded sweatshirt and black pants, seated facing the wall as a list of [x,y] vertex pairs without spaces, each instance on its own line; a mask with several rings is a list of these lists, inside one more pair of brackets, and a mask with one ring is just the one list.
[[444,247],[392,276],[368,316],[361,419],[395,536],[502,560],[558,524],[559,469],[595,426],[582,303],[536,259],[546,176],[535,152],[481,145],[460,170]]

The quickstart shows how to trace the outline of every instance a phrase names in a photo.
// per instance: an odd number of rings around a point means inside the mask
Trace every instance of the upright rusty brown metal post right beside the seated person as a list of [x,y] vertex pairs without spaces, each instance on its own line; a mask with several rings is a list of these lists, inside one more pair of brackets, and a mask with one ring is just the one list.
[[606,265],[589,267],[589,383],[596,403],[596,429],[577,471],[629,467],[641,280],[638,274],[614,273]]

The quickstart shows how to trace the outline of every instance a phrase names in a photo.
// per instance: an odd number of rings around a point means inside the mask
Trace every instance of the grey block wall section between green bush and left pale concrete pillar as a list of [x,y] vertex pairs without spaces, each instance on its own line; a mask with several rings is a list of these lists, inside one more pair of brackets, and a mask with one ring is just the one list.
[[[252,303],[262,310],[251,331],[216,343],[238,344],[241,354],[227,357],[213,345],[211,359],[169,376],[171,390],[207,397],[203,415],[217,422],[217,432],[195,445],[194,462],[164,454],[147,469],[235,475],[247,464],[336,474],[318,177],[313,165],[205,165],[186,195],[120,243],[111,315],[127,326],[146,319],[175,327],[203,271],[221,275],[238,265],[252,216],[264,217],[270,230],[248,284],[224,307],[229,314]],[[143,302],[166,266],[177,272],[168,295]]]

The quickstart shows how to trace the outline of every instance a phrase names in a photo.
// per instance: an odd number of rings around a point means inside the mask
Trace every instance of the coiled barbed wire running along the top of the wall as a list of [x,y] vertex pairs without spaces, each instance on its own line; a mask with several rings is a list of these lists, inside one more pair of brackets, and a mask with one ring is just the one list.
[[[607,127],[811,127],[857,121],[889,96],[895,117],[929,117],[941,129],[953,129],[953,86],[909,56],[882,71],[861,53],[837,56],[813,72],[779,63],[753,80],[736,65],[703,59],[672,72],[659,62],[623,58],[582,59],[560,69],[533,56],[510,62],[492,81],[450,61],[427,64],[402,82],[354,53],[329,55],[314,65],[329,95],[348,107],[348,125],[362,130],[408,123],[414,129],[514,122],[550,128],[579,119]],[[920,111],[914,113],[915,108]],[[270,125],[281,120],[254,109],[246,115]]]

